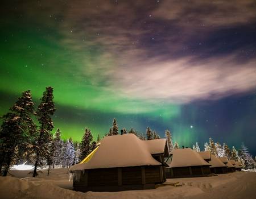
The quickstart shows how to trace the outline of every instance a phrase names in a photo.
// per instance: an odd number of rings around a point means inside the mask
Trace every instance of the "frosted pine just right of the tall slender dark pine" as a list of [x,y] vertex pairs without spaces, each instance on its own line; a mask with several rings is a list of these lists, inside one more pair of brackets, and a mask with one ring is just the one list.
[[57,128],[55,135],[53,136],[53,144],[54,144],[54,152],[53,152],[53,163],[52,167],[54,168],[55,165],[60,165],[62,161],[62,151],[63,151],[63,139],[61,139],[61,131],[60,128]]

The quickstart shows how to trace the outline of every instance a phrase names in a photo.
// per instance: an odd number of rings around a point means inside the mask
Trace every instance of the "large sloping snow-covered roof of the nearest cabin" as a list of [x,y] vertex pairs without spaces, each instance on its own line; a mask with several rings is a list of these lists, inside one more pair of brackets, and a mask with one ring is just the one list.
[[155,146],[155,143],[161,144],[163,140],[144,141],[134,134],[106,136],[88,162],[75,164],[69,170],[161,165],[152,157],[151,152],[159,153],[163,146]]

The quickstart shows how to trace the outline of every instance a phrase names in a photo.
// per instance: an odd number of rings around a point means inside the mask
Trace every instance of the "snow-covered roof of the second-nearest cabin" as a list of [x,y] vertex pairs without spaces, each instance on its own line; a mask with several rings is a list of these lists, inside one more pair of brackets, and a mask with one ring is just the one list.
[[191,148],[175,149],[171,151],[171,154],[171,163],[167,163],[169,168],[209,165],[207,161]]

